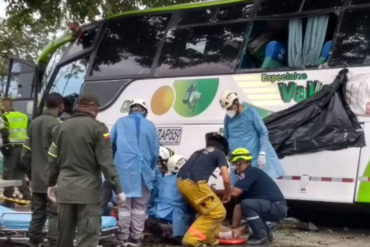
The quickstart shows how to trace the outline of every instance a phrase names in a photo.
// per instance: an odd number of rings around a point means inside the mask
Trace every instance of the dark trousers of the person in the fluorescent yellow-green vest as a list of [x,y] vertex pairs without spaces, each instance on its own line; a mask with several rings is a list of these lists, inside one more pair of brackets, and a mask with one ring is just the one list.
[[[22,180],[22,185],[18,187],[23,195],[23,199],[30,200],[31,192],[28,184],[25,181],[25,171],[21,166],[22,147],[11,147],[9,154],[4,155],[3,160],[3,179],[4,180]],[[4,196],[13,197],[14,188],[7,187],[4,189]]]

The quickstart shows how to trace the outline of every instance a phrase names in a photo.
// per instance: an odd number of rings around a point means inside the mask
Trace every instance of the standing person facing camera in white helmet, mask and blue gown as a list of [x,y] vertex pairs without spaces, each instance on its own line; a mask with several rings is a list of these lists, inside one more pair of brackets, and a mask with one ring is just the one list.
[[[237,94],[232,91],[222,93],[220,105],[226,110],[224,135],[230,149],[246,148],[253,157],[257,157],[252,161],[252,166],[258,166],[272,178],[283,176],[284,170],[256,109],[247,104],[240,104]],[[234,183],[237,178],[233,174],[231,176]]]

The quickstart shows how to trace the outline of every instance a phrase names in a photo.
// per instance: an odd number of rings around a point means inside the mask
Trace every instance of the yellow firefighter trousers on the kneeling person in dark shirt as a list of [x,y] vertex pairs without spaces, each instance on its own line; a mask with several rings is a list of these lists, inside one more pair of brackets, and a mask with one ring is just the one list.
[[186,232],[182,243],[188,246],[217,244],[215,235],[226,216],[226,210],[220,199],[213,193],[206,181],[193,182],[177,179],[177,187],[198,213],[197,219]]

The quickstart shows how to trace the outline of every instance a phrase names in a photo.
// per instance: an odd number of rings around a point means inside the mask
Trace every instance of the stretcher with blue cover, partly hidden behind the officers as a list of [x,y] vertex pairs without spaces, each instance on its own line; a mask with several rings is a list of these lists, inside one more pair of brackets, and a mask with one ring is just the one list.
[[[0,241],[15,243],[28,242],[28,228],[32,213],[16,211],[0,205]],[[112,216],[102,216],[100,241],[114,239],[117,220]],[[46,235],[47,227],[44,228]]]

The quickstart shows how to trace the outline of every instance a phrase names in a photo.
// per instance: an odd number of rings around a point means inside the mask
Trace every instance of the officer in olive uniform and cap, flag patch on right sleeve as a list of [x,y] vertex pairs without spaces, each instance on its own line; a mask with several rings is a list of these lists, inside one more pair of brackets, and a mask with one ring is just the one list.
[[103,172],[118,195],[125,201],[107,127],[95,120],[98,114],[95,95],[81,95],[76,111],[57,126],[49,148],[48,195],[56,186],[58,203],[58,247],[97,246],[101,227],[101,192]]

